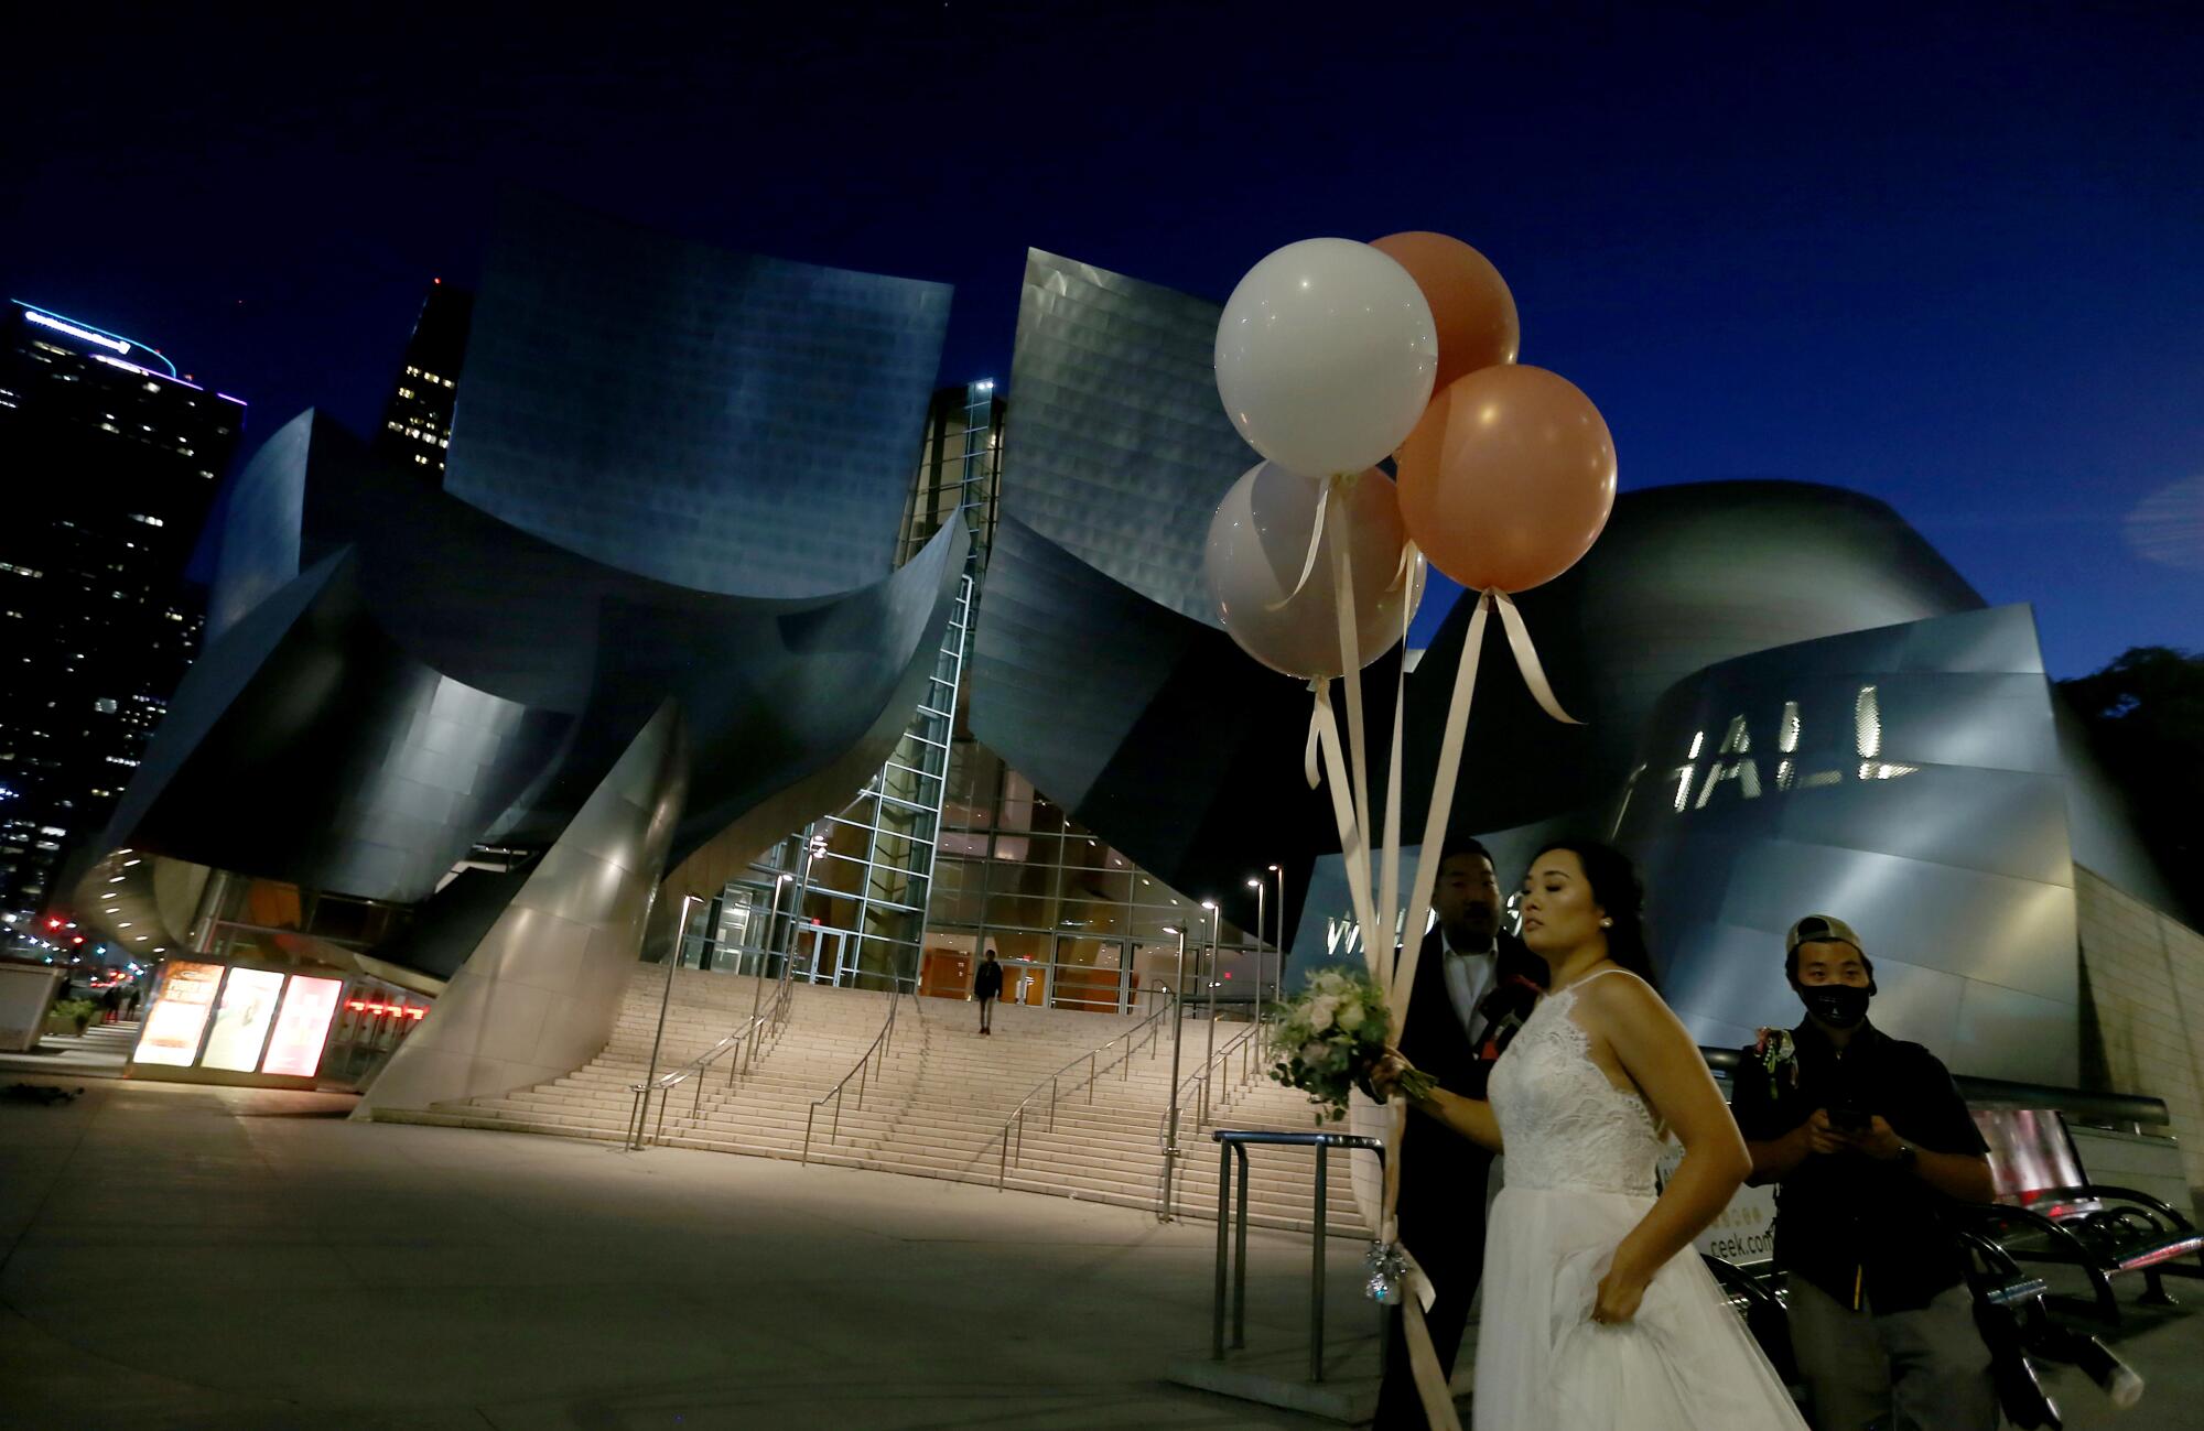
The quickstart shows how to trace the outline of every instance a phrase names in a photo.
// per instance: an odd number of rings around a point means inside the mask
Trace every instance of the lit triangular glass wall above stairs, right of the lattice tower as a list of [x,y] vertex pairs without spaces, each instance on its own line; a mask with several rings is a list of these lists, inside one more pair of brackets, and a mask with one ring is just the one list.
[[1223,925],[1214,975],[1206,969],[1210,911],[1113,850],[1029,779],[970,738],[950,753],[941,854],[926,920],[919,993],[970,997],[992,949],[1003,997],[1087,1013],[1144,1006],[1177,982],[1186,929],[1186,986],[1219,1004],[1258,997],[1254,942]]

